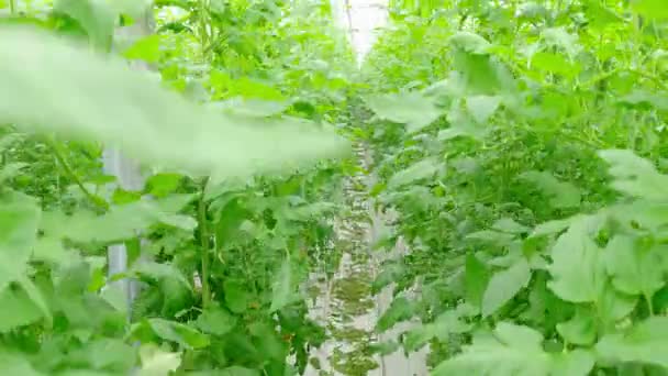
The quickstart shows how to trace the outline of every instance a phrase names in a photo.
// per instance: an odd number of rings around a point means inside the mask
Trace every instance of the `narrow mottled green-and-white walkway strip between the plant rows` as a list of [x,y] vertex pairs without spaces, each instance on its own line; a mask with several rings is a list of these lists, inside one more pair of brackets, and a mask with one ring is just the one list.
[[[357,146],[355,154],[360,164],[365,148]],[[313,319],[327,329],[330,340],[313,355],[308,376],[315,375],[382,375],[380,360],[370,355],[376,342],[374,327],[377,311],[371,294],[376,277],[376,263],[368,247],[370,231],[367,202],[366,170],[344,181],[345,217],[336,223],[334,250],[342,252],[333,278],[314,276],[320,294],[311,308]],[[320,280],[318,280],[320,279]],[[322,279],[325,279],[324,281]],[[374,372],[375,371],[375,372]],[[374,373],[372,373],[374,372]]]

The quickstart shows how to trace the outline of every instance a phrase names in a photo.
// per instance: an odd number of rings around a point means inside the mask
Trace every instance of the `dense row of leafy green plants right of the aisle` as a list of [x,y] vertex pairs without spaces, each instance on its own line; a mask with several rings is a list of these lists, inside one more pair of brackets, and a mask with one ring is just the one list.
[[[393,1],[356,135],[434,375],[668,372],[661,1]],[[382,252],[382,251],[379,251]],[[417,299],[408,291],[417,288]]]

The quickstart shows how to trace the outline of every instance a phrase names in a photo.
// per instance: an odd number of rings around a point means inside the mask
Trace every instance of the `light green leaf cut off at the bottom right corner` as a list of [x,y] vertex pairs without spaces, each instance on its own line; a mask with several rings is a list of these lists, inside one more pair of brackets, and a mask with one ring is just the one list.
[[652,317],[624,333],[608,334],[595,350],[605,360],[668,367],[668,317]]

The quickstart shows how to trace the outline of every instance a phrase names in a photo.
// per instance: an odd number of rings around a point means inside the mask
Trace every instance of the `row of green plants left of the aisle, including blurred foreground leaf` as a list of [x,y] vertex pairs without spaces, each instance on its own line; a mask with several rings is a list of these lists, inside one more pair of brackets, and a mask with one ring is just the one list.
[[[303,286],[335,268],[355,165],[329,1],[0,8],[0,373],[303,373],[324,341]],[[110,146],[142,189],[103,174]],[[108,276],[119,243],[129,269]]]

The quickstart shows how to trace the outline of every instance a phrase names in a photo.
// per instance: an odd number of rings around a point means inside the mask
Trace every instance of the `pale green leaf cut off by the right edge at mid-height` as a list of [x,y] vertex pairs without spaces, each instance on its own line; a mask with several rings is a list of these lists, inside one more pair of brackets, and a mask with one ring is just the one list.
[[657,172],[654,164],[641,158],[632,151],[606,150],[599,155],[610,166],[610,175],[614,177],[612,187],[631,197],[648,200],[665,200],[668,197],[665,189],[668,176]]

